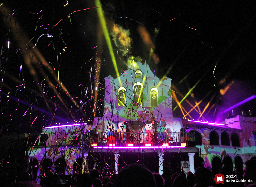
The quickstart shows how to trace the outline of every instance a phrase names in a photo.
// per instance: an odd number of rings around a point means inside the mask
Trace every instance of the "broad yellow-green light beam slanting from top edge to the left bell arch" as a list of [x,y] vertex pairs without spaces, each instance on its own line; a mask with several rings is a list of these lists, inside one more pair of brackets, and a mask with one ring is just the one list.
[[[101,7],[100,1],[95,0],[95,5],[97,7]],[[109,53],[110,53],[110,56],[111,56],[111,59],[112,59],[112,62],[113,62],[113,65],[114,65],[114,68],[115,68],[115,71],[116,71],[118,81],[119,81],[120,85],[122,85],[122,82],[121,82],[121,79],[120,79],[120,74],[118,72],[118,68],[117,68],[117,64],[116,64],[115,55],[114,55],[113,48],[112,48],[112,45],[111,45],[111,39],[110,39],[110,36],[109,36],[108,28],[106,26],[106,21],[105,21],[105,17],[103,15],[102,9],[97,8],[97,13],[98,13],[98,16],[99,16],[99,19],[100,19],[100,23],[101,23],[101,27],[102,27],[104,36],[106,38],[106,43],[107,43],[108,48],[109,48]]]

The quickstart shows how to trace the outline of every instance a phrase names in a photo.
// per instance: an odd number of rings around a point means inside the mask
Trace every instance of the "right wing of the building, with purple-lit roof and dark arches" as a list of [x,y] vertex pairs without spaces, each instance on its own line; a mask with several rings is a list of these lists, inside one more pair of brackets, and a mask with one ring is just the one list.
[[204,167],[220,169],[228,165],[243,169],[243,164],[256,157],[256,117],[237,115],[225,119],[225,125],[208,125],[184,120],[188,132],[195,132],[196,147]]

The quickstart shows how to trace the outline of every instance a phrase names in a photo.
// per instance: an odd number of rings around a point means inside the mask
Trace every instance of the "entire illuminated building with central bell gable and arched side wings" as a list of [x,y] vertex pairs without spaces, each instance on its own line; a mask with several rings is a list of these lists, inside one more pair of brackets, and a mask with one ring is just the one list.
[[119,77],[105,78],[104,105],[103,117],[93,121],[43,129],[27,154],[35,180],[47,172],[74,176],[93,168],[117,173],[132,162],[154,165],[160,174],[234,169],[256,156],[255,117],[224,124],[173,117],[171,79],[156,77],[146,62],[131,62]]

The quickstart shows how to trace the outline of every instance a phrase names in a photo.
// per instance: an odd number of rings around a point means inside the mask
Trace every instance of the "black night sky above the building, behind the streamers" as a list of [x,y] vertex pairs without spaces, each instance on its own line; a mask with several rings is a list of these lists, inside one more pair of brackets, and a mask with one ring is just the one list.
[[[95,64],[102,62],[99,90],[104,87],[105,77],[116,78],[95,2],[0,3],[1,130],[40,131],[50,123],[91,119]],[[210,102],[203,114],[209,121],[223,121],[229,114],[221,112],[256,94],[253,1],[106,0],[101,5],[119,73],[127,68],[129,57],[140,56],[157,77],[167,75],[172,79],[179,101],[197,84],[187,100],[195,105],[204,98],[199,105],[201,112]],[[111,34],[114,25],[129,33],[129,45],[122,45],[118,39],[119,45],[115,44]],[[37,60],[31,65],[26,55]],[[100,61],[96,63],[97,55]],[[57,86],[54,74],[67,90]],[[98,98],[101,105],[103,89]],[[186,111],[192,108],[186,101],[182,106]],[[251,110],[255,116],[255,106],[253,99],[234,110],[237,114]],[[183,117],[179,108],[173,114]],[[196,111],[190,115],[194,119],[200,116]]]

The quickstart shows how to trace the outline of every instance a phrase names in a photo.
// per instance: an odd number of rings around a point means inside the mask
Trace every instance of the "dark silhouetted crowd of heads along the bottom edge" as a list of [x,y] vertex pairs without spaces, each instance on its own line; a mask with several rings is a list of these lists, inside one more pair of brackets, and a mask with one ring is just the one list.
[[[130,164],[123,167],[118,174],[107,173],[105,176],[99,170],[93,169],[90,173],[76,176],[72,183],[68,184],[68,187],[214,187],[219,185],[222,187],[256,187],[256,159],[247,160],[244,166],[244,170],[236,169],[235,171],[232,171],[229,166],[224,166],[221,170],[212,168],[211,171],[205,167],[198,167],[195,173],[180,171],[171,176],[168,171],[160,175],[152,173],[144,165]],[[236,175],[237,182],[224,181],[223,184],[216,184],[214,178],[219,173],[224,176]],[[32,183],[29,179],[27,172],[23,172],[13,181],[8,180],[7,176],[1,175],[0,186],[45,186]],[[58,186],[61,185],[57,184],[56,187]]]

